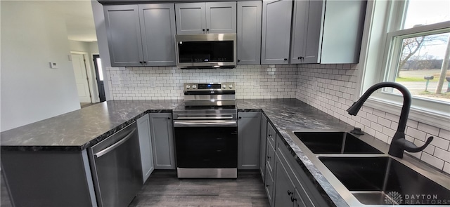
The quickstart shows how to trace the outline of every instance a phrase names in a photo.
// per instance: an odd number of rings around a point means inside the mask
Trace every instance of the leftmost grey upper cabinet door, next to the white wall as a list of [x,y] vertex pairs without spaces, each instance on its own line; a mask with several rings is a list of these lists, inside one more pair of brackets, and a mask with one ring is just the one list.
[[103,6],[111,66],[142,66],[142,41],[137,5]]

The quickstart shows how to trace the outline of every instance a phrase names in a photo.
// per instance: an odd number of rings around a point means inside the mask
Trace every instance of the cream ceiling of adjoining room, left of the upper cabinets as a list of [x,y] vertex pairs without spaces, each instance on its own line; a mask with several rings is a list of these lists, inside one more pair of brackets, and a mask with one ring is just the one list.
[[68,39],[75,41],[97,41],[90,0],[38,0],[30,2],[39,4],[39,7],[49,13],[64,18],[68,29]]

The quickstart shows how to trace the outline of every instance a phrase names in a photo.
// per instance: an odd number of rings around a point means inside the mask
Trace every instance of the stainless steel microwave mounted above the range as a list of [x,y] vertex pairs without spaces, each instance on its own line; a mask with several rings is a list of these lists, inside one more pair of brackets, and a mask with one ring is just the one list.
[[176,67],[182,69],[236,67],[236,33],[176,34]]

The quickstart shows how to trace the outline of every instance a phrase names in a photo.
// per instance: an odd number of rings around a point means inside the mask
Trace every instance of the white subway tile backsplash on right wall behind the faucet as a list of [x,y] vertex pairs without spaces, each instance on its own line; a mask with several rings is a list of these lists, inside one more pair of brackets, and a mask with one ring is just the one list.
[[[363,106],[356,116],[350,116],[347,110],[357,98],[354,97],[359,67],[355,64],[338,65],[298,65],[297,99],[335,116],[375,138],[390,143],[397,131],[399,115]],[[435,168],[450,173],[450,131],[426,123],[409,119],[406,125],[406,139],[416,145],[434,136],[424,152],[409,153]]]

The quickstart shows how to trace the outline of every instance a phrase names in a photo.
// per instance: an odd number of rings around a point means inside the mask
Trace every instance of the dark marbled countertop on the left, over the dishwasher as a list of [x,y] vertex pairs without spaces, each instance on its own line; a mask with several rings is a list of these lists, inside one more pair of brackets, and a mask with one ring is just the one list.
[[4,131],[1,150],[80,151],[148,112],[172,113],[182,100],[109,100]]

